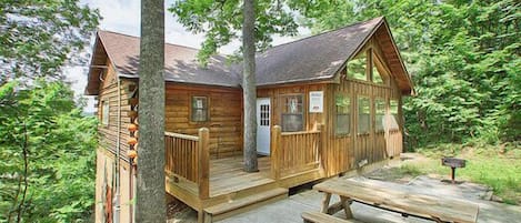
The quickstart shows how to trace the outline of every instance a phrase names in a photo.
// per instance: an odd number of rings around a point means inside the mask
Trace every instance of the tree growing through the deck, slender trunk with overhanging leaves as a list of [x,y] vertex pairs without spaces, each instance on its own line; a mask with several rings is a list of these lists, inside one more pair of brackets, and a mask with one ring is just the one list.
[[[241,7],[242,3],[242,7]],[[294,14],[285,10],[287,1],[227,0],[177,1],[169,10],[193,33],[206,34],[198,58],[202,64],[220,47],[239,39],[242,28],[243,99],[244,99],[244,170],[257,170],[256,64],[257,50],[270,47],[273,34],[297,33]],[[242,10],[241,10],[242,9]]]

